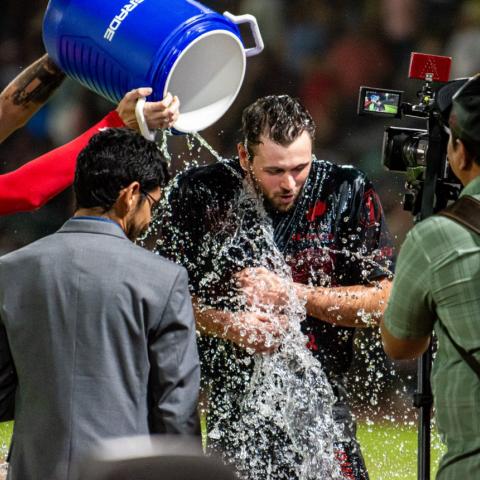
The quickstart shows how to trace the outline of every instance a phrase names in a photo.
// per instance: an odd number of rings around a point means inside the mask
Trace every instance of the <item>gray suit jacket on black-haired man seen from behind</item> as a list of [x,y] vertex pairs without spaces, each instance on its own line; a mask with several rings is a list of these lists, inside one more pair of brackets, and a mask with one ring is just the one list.
[[72,218],[0,258],[0,319],[0,420],[15,417],[10,479],[72,479],[99,439],[194,432],[200,373],[186,270],[118,225]]

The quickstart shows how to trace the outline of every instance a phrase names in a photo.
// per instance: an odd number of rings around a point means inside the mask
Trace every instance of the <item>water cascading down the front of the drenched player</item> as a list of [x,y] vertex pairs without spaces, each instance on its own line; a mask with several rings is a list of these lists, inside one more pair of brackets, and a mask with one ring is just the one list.
[[[175,225],[175,218],[170,220]],[[223,365],[221,385],[215,379],[210,384],[209,448],[233,463],[243,479],[341,478],[335,444],[343,440],[343,432],[333,420],[335,397],[320,363],[305,347],[300,330],[304,304],[273,240],[271,220],[248,182],[225,212],[222,225],[202,240],[205,248],[199,252],[197,268],[208,261],[211,266],[202,268],[196,289],[198,307],[268,315],[274,330],[281,331],[282,340],[275,353],[265,356],[220,341],[204,351],[204,361],[214,363],[222,349],[228,350],[222,359],[227,365]],[[169,236],[164,242],[171,239]],[[164,250],[162,241],[159,247]],[[285,281],[281,305],[262,302],[262,295],[247,303],[234,280],[226,280],[246,267],[268,268]],[[260,293],[261,286],[257,287]],[[277,342],[268,330],[252,332],[241,324],[235,327],[240,336],[244,329],[246,345]]]

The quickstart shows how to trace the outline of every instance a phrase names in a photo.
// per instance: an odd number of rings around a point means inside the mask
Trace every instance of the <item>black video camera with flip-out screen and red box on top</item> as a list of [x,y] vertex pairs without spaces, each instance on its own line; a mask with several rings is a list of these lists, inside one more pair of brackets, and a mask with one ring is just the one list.
[[406,173],[404,209],[421,218],[445,208],[461,190],[447,160],[451,102],[442,102],[441,98],[447,85],[459,82],[448,81],[450,67],[450,57],[411,54],[409,78],[424,81],[417,104],[403,102],[404,92],[400,90],[360,87],[359,115],[425,120],[424,129],[386,127],[382,148],[383,165]]

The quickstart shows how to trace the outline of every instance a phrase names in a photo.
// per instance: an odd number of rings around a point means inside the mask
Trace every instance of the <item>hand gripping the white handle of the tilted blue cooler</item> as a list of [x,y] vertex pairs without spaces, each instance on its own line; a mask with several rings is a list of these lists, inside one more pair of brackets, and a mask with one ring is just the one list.
[[[129,128],[138,130],[135,106],[141,97],[148,97],[152,93],[149,87],[137,88],[125,94],[117,107],[117,113],[123,123]],[[171,128],[178,120],[180,101],[170,93],[161,102],[145,103],[144,114],[148,127],[152,130],[157,128]]]

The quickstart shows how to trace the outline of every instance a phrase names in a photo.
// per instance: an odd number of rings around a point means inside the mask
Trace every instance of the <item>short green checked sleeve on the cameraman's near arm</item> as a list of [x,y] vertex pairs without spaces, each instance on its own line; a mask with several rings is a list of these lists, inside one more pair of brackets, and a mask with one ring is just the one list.
[[429,293],[430,274],[430,261],[415,227],[400,250],[385,312],[385,327],[394,337],[420,338],[431,333],[435,316]]

